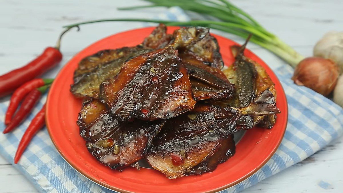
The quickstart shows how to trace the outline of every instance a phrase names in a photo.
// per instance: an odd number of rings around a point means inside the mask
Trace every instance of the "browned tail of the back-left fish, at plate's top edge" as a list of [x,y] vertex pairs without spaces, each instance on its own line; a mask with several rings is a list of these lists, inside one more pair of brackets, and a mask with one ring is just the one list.
[[173,40],[173,35],[167,34],[167,26],[160,23],[154,31],[144,39],[142,45],[147,48],[160,49],[171,44]]

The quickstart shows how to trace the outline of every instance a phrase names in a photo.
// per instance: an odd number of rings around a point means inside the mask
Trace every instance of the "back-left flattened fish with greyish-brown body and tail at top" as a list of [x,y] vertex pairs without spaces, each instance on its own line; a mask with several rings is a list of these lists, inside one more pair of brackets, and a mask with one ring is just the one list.
[[76,97],[98,98],[100,83],[105,79],[115,77],[124,61],[150,52],[152,49],[165,47],[173,39],[173,35],[166,34],[166,26],[160,24],[144,39],[141,45],[101,50],[84,58],[74,72],[74,84],[71,86],[71,92]]

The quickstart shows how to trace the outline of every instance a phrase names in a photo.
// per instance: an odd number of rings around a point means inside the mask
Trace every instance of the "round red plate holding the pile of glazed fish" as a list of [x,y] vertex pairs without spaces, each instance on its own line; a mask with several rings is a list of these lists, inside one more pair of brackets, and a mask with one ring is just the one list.
[[[239,141],[236,154],[211,173],[200,176],[187,176],[170,180],[157,170],[126,168],[123,172],[112,170],[100,164],[85,146],[79,135],[76,119],[82,100],[76,99],[70,92],[73,73],[79,61],[102,49],[115,49],[135,46],[148,36],[153,27],[134,29],[104,38],[88,46],[71,59],[60,71],[52,84],[46,111],[46,123],[52,142],[61,156],[83,176],[108,189],[120,192],[214,192],[233,186],[257,172],[275,153],[284,135],[287,124],[287,101],[283,88],[272,70],[259,57],[246,50],[246,56],[261,64],[275,83],[277,107],[281,113],[273,129],[251,129]],[[168,27],[172,33],[177,27]],[[226,65],[234,58],[229,46],[232,40],[214,35],[220,45]]]

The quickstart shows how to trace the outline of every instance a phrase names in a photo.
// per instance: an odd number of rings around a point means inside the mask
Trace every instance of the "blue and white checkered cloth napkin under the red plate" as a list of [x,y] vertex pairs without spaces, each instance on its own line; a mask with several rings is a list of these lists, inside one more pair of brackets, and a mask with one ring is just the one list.
[[[158,19],[189,20],[179,8],[170,8]],[[143,25],[149,25],[144,23]],[[271,66],[279,77],[288,101],[288,125],[283,141],[268,163],[249,179],[222,192],[239,192],[281,170],[304,160],[343,132],[343,109],[331,100],[291,81],[292,68]],[[0,134],[0,153],[13,164],[19,140],[29,122],[43,105],[37,105],[28,119],[14,132]],[[4,129],[4,114],[9,102],[0,103],[0,131]],[[58,154],[47,130],[39,131],[14,165],[41,192],[111,192],[81,176]]]

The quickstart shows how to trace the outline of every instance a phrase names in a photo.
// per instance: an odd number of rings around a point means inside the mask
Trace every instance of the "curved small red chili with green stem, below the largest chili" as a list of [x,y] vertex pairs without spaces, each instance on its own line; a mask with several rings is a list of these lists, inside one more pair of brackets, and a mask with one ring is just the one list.
[[11,97],[10,105],[6,111],[5,125],[8,125],[11,122],[13,114],[17,110],[19,103],[29,92],[35,88],[44,86],[46,84],[51,84],[52,81],[54,81],[54,79],[33,79],[32,81],[29,81],[17,88]]

